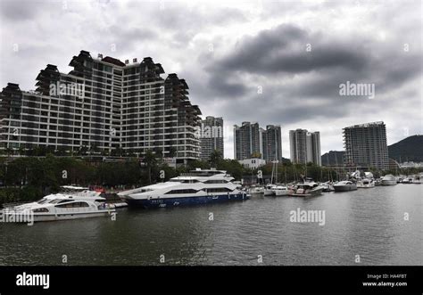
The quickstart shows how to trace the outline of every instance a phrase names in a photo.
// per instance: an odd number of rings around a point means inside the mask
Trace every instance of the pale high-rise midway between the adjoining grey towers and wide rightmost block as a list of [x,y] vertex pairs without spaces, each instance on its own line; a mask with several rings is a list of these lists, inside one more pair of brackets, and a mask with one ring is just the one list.
[[289,131],[291,161],[298,164],[314,163],[321,166],[320,134],[306,129]]

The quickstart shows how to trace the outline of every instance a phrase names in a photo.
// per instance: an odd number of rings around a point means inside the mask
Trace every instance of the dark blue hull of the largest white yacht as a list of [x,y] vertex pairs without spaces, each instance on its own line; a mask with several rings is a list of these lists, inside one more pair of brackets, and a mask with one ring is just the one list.
[[207,195],[184,198],[163,198],[163,199],[127,199],[129,207],[137,207],[144,209],[152,208],[171,208],[179,206],[194,206],[211,203],[220,203],[226,201],[244,201],[249,197],[246,193],[238,194],[221,194],[221,195]]

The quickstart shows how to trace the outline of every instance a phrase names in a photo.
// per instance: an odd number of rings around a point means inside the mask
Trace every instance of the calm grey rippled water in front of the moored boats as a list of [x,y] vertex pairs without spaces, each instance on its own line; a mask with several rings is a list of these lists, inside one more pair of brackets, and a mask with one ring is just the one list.
[[[0,265],[423,265],[423,184],[0,224]],[[326,225],[290,211],[324,209]],[[209,220],[212,212],[214,220]],[[404,212],[410,220],[404,221]]]

